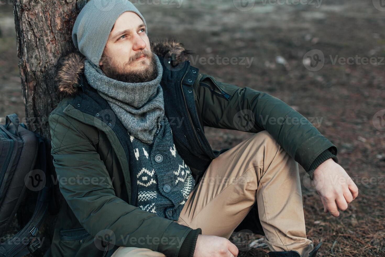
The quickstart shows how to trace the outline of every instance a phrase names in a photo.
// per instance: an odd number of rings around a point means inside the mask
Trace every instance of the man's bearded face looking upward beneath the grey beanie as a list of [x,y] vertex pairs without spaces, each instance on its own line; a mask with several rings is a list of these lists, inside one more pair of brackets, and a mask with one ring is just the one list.
[[124,12],[116,20],[99,62],[108,77],[131,83],[156,79],[156,56],[145,29],[134,12]]

